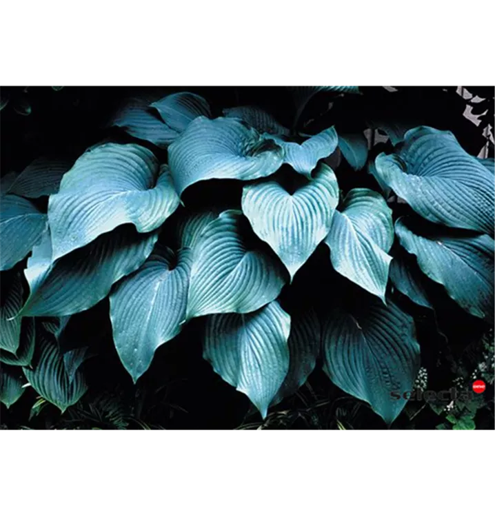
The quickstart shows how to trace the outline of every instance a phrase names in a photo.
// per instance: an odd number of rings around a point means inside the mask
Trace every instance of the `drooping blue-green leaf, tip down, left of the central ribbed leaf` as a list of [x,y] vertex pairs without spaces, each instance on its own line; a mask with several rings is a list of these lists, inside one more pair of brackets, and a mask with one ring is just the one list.
[[188,304],[192,252],[174,256],[156,247],[141,268],[110,294],[115,347],[134,383],[148,371],[154,353],[181,332]]

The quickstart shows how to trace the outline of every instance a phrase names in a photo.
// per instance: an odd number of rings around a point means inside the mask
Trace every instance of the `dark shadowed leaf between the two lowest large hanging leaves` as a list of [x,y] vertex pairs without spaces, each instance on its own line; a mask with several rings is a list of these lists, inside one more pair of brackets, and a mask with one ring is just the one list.
[[313,373],[321,347],[321,324],[313,309],[292,317],[289,336],[289,372],[272,401],[279,404],[294,394]]

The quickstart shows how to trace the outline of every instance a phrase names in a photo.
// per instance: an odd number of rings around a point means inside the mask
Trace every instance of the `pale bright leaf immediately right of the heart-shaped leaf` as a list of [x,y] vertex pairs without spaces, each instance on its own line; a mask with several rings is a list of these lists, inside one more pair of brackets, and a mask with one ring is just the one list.
[[392,210],[380,194],[367,188],[347,194],[325,239],[336,272],[384,302],[393,243]]

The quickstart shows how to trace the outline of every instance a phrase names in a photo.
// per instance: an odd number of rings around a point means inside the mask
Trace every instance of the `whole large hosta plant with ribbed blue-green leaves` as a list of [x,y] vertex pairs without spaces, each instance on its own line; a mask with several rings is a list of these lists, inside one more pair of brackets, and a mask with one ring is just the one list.
[[101,349],[66,331],[108,302],[134,383],[197,319],[204,359],[263,418],[321,366],[391,425],[421,367],[404,298],[493,325],[492,161],[401,121],[372,121],[390,136],[373,147],[331,123],[357,85],[286,93],[283,120],[194,92],[128,99],[79,158],[3,176],[1,402],[77,405]]

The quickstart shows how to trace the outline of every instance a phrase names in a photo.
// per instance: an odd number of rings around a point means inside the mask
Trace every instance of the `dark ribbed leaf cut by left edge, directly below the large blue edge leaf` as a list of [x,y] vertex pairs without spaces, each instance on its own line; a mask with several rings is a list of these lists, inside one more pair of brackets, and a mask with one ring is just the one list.
[[20,345],[21,319],[14,318],[23,305],[21,274],[0,273],[0,351],[15,354]]

